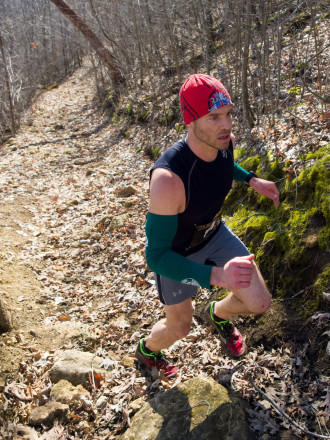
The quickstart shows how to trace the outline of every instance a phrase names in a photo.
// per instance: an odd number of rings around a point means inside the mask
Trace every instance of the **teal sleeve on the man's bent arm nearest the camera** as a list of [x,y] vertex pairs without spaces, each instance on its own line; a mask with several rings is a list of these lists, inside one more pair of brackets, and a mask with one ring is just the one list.
[[148,213],[146,259],[149,269],[179,283],[210,289],[212,266],[195,263],[171,250],[177,227],[177,215]]

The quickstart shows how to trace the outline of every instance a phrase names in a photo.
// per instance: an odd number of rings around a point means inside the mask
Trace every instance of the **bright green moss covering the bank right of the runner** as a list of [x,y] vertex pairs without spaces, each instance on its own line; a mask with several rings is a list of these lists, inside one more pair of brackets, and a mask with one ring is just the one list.
[[[240,165],[277,182],[281,203],[275,209],[270,199],[236,183],[224,204],[224,218],[255,254],[268,287],[277,297],[288,297],[310,286],[322,270],[319,253],[328,251],[330,239],[328,151],[329,146],[307,153],[301,172],[291,180],[285,174],[290,162],[271,155],[244,158],[250,154],[247,151],[241,155]],[[315,295],[309,294],[313,310],[319,304]],[[300,313],[307,313],[306,304]]]

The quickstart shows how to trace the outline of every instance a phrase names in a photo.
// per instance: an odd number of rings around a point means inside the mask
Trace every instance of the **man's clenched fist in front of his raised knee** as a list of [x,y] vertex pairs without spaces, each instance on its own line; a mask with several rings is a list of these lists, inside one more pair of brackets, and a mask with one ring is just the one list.
[[210,284],[230,290],[247,288],[250,286],[255,268],[254,255],[235,257],[224,267],[212,268]]

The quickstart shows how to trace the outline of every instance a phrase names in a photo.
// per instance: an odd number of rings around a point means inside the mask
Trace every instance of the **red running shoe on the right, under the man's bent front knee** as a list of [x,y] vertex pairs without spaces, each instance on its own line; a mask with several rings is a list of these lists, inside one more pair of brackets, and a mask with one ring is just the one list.
[[227,321],[216,321],[213,317],[213,311],[216,301],[212,301],[206,308],[205,314],[220,335],[221,342],[229,356],[238,359],[246,353],[246,344],[243,336],[235,327],[235,325],[227,319]]

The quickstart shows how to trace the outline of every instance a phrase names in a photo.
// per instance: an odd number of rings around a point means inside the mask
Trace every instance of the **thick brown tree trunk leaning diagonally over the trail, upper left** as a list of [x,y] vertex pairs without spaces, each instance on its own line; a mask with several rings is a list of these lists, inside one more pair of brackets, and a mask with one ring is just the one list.
[[115,57],[104,47],[103,42],[90,29],[88,24],[76,14],[64,0],[50,0],[54,5],[71,21],[71,23],[84,35],[90,45],[96,50],[98,56],[103,60],[110,71],[114,86],[122,84],[125,79],[121,73],[120,66]]

